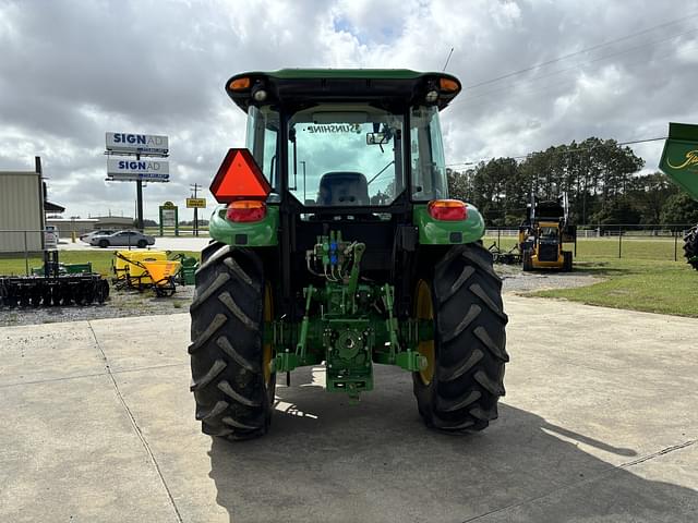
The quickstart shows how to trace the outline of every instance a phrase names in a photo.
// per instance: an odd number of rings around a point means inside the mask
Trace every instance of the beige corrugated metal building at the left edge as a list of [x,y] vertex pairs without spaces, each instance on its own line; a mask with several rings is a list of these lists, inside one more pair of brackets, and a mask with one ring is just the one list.
[[0,171],[0,253],[41,251],[44,188],[41,159],[34,171]]

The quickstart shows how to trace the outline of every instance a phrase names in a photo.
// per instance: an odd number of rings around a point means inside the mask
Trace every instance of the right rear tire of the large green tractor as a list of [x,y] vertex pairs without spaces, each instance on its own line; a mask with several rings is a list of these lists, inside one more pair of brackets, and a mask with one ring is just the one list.
[[[431,367],[412,374],[419,412],[428,426],[441,430],[482,430],[496,419],[497,401],[505,394],[504,364],[509,356],[502,280],[492,255],[479,244],[453,247],[428,280],[418,283],[416,314],[429,317],[419,297],[420,285],[426,284],[434,356]],[[422,343],[420,352],[425,355]]]

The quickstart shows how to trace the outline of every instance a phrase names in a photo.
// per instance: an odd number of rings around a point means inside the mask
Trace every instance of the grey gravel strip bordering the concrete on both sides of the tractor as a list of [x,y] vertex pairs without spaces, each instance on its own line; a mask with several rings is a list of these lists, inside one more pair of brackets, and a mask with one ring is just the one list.
[[[583,287],[600,281],[583,272],[522,272],[517,265],[495,265],[495,270],[504,279],[504,292],[513,293]],[[117,291],[112,288],[109,300],[103,305],[0,308],[0,327],[185,313],[193,295],[193,287],[178,287],[172,297],[156,297],[153,291]]]

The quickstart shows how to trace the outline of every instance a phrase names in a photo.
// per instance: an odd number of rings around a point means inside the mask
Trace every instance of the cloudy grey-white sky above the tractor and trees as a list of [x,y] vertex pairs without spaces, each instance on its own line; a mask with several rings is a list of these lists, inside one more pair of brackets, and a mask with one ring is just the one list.
[[[104,181],[105,132],[166,134],[155,218],[244,145],[232,74],[441,70],[452,48],[465,89],[443,113],[447,163],[698,122],[697,0],[0,0],[0,170],[41,156],[67,217],[133,216],[135,184]],[[634,149],[653,169],[661,145]]]

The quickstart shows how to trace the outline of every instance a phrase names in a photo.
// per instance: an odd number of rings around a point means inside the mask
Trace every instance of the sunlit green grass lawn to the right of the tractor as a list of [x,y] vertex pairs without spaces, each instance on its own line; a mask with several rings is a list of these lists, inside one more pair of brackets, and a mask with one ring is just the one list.
[[[495,241],[496,239],[494,239]],[[514,239],[502,239],[502,247]],[[493,243],[486,239],[485,245]],[[605,281],[576,289],[538,291],[528,295],[557,297],[614,308],[698,317],[698,271],[683,258],[674,262],[673,240],[624,240],[618,258],[618,239],[580,240],[575,270]]]

